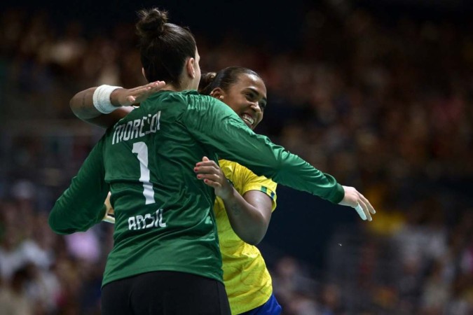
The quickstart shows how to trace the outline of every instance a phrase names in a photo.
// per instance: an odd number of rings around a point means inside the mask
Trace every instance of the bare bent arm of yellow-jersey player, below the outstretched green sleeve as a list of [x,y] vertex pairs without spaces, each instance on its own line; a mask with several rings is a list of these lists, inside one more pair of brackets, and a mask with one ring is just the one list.
[[268,230],[273,200],[257,190],[250,190],[242,197],[226,179],[219,165],[206,157],[196,164],[194,172],[198,179],[213,187],[215,195],[224,202],[235,234],[248,244],[258,244]]

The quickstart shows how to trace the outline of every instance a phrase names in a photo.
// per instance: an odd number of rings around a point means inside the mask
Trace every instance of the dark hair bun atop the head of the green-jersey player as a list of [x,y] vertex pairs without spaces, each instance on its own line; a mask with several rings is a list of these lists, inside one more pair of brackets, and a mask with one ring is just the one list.
[[161,11],[158,8],[140,10],[138,16],[137,34],[139,37],[152,40],[164,33],[164,26],[167,23],[167,11]]

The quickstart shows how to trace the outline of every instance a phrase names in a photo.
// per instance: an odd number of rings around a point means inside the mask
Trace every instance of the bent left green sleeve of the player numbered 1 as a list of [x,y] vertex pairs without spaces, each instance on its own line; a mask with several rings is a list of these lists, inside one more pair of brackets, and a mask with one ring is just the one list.
[[58,234],[85,231],[102,221],[109,192],[103,162],[104,138],[92,149],[71,185],[57,199],[49,215],[49,225]]

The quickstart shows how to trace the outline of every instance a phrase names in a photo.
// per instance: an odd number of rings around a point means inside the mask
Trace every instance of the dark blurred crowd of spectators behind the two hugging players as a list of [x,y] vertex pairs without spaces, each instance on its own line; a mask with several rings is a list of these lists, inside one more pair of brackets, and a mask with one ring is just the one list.
[[203,71],[268,88],[256,132],[357,187],[355,211],[278,187],[259,245],[283,314],[473,314],[473,3],[1,1],[0,315],[100,314],[113,226],[47,217],[103,130],[69,99],[142,85],[135,14],[196,34]]

